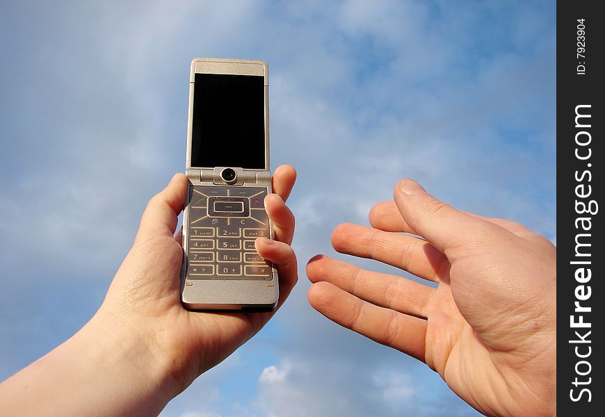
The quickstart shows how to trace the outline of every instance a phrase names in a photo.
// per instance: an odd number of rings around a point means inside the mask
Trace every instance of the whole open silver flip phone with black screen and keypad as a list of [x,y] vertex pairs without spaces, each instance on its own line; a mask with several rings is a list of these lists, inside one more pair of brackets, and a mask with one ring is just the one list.
[[194,310],[271,311],[277,271],[255,250],[273,238],[268,67],[259,60],[191,63],[181,302]]

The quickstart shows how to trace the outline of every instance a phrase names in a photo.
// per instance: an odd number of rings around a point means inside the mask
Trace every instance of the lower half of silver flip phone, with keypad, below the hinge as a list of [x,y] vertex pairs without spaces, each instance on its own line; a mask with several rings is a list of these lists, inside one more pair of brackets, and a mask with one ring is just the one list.
[[189,187],[184,213],[181,302],[190,310],[272,311],[277,271],[257,254],[272,238],[268,186]]

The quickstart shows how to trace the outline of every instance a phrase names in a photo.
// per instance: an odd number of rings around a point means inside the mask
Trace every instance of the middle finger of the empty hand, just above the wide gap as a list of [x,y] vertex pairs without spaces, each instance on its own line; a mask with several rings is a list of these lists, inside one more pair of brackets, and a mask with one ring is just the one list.
[[449,267],[444,254],[425,240],[357,224],[344,223],[334,229],[332,246],[338,252],[376,259],[430,281],[439,281]]

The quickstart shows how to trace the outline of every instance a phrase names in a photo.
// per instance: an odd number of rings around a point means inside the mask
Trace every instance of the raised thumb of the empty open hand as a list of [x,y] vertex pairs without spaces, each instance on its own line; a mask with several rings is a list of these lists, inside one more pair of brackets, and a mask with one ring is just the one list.
[[455,247],[479,243],[492,231],[488,222],[439,201],[413,179],[399,181],[393,196],[403,220],[413,233],[446,255]]

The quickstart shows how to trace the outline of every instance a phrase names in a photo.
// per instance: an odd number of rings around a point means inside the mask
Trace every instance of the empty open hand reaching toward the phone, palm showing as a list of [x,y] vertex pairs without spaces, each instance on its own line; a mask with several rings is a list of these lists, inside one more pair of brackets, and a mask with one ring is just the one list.
[[425,361],[485,414],[551,415],[554,247],[519,224],[460,212],[465,217],[455,224],[465,218],[473,224],[452,236],[470,229],[478,238],[450,245],[428,229],[433,244],[393,233],[419,234],[400,210],[394,202],[377,204],[370,214],[374,228],[342,224],[332,245],[435,281],[437,288],[316,256],[307,265],[314,282],[309,302],[331,320]]

